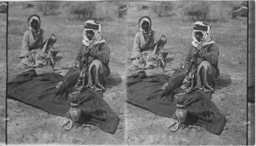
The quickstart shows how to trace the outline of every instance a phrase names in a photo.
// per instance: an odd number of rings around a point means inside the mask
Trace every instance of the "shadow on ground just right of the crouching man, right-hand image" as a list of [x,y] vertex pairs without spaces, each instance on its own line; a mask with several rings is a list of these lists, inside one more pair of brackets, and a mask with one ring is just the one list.
[[223,87],[227,87],[230,85],[231,83],[231,76],[227,75],[227,74],[221,74],[217,77],[217,79],[215,80],[216,86],[215,86],[215,90],[221,90]]

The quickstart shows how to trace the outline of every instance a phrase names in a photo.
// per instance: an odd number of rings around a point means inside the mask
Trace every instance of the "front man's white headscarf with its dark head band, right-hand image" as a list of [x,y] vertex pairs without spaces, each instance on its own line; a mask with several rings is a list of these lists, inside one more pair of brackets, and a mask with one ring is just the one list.
[[206,45],[209,45],[209,44],[212,44],[212,43],[215,43],[214,41],[211,40],[211,37],[210,37],[210,26],[201,22],[201,21],[197,21],[195,23],[196,26],[193,27],[194,31],[192,33],[192,38],[193,38],[193,41],[191,42],[191,44],[194,46],[194,47],[197,47],[198,45],[198,40],[196,39],[196,32],[202,32],[203,33],[203,38],[202,38],[202,45],[203,46],[206,46]]

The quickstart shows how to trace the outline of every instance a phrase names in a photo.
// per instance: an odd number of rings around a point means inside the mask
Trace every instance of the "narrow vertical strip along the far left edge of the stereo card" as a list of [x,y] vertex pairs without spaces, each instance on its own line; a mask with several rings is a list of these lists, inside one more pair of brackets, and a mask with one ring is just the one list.
[[6,143],[6,26],[7,5],[0,2],[0,145]]

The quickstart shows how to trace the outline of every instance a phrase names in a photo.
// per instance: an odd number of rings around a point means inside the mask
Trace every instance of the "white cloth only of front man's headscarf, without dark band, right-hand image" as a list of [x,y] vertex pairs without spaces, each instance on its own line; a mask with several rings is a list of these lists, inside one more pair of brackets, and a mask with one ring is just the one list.
[[193,33],[192,33],[192,38],[193,38],[193,41],[191,42],[191,44],[194,46],[194,47],[197,47],[198,45],[198,40],[196,39],[196,33],[195,32],[202,32],[203,33],[203,38],[201,41],[202,42],[202,45],[203,46],[206,46],[206,45],[209,45],[209,44],[212,44],[212,43],[215,43],[214,41],[211,40],[211,37],[210,37],[210,26],[209,25],[205,25],[203,24],[203,22],[201,21],[197,21],[193,24],[199,24],[199,25],[203,25],[203,26],[207,26],[207,31],[201,31],[201,30],[194,30]]

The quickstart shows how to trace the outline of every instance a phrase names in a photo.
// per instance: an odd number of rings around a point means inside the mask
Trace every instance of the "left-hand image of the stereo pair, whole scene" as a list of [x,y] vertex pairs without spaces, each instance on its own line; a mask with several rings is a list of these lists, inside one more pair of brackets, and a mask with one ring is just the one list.
[[122,5],[9,2],[7,144],[123,145]]

